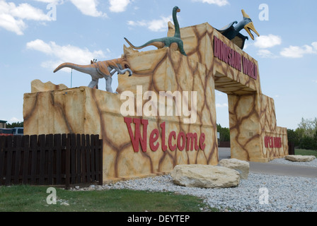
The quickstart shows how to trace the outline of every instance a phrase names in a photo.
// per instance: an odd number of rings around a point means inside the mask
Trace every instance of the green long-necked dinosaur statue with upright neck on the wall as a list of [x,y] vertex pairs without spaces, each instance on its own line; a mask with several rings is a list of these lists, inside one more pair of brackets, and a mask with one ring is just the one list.
[[175,25],[175,35],[174,37],[161,37],[158,39],[150,40],[149,42],[146,42],[145,44],[142,44],[139,47],[135,47],[127,38],[125,40],[127,43],[133,48],[133,49],[142,49],[144,47],[148,47],[150,45],[153,45],[157,47],[158,49],[161,49],[163,47],[171,47],[174,50],[179,50],[181,54],[186,55],[184,51],[184,44],[183,40],[180,39],[180,25],[178,24],[176,13],[180,12],[180,8],[178,6],[175,6],[173,8],[173,22]]

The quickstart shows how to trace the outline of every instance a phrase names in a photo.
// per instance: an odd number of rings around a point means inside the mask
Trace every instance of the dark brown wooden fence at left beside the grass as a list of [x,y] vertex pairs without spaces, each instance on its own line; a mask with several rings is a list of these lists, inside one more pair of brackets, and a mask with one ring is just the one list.
[[0,185],[103,184],[98,135],[0,136]]

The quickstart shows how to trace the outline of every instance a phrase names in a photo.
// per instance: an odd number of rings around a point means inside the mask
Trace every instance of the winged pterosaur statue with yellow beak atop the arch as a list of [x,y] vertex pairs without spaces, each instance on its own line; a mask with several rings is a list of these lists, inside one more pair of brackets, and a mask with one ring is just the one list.
[[[250,16],[248,16],[248,14],[246,14],[246,12],[242,9],[241,10],[242,15],[243,15],[243,20],[241,20],[239,23],[237,21],[234,21],[232,23],[229,23],[229,25],[226,25],[226,27],[222,28],[222,29],[217,29],[222,35],[224,35],[226,38],[228,38],[229,40],[231,40],[231,42],[234,42],[234,44],[236,44],[238,47],[240,47],[241,49],[243,49],[244,47],[244,42],[246,40],[248,40],[247,36],[244,36],[240,33],[240,31],[244,28],[246,30],[246,32],[248,32],[248,35],[250,35],[250,37],[252,38],[252,40],[254,40],[254,36],[252,35],[252,33],[250,32],[250,30],[252,30],[253,32],[255,32],[256,35],[260,36],[258,31],[255,30],[253,22],[250,18]],[[236,26],[234,26],[234,24],[236,24]]]

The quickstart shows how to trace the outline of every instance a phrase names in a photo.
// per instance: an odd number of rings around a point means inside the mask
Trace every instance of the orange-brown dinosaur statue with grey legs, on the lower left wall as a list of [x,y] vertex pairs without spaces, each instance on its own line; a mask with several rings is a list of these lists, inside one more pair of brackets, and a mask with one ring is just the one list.
[[99,78],[105,78],[105,88],[106,91],[110,93],[115,93],[113,92],[111,83],[113,82],[112,76],[116,71],[118,74],[125,74],[128,71],[129,76],[132,76],[132,71],[130,69],[129,62],[125,57],[111,59],[108,61],[97,61],[96,59],[93,59],[93,61],[91,61],[91,64],[88,65],[64,63],[59,65],[54,70],[54,73],[65,67],[74,69],[76,71],[80,71],[82,73],[88,73],[89,75],[91,75],[91,82],[88,85],[88,87],[90,88],[98,87]]

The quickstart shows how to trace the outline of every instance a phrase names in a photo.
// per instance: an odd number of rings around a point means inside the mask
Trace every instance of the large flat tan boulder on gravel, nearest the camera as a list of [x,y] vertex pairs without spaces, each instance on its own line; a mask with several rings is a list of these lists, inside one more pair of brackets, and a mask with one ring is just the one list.
[[175,184],[189,187],[226,188],[240,184],[236,170],[213,165],[176,165],[171,177]]

